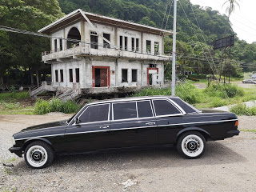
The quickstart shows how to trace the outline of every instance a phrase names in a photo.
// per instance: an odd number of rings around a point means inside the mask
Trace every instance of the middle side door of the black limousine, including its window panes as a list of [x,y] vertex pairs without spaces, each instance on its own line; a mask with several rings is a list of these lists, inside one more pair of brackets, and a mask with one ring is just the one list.
[[150,100],[114,102],[111,131],[115,147],[149,146],[158,142]]

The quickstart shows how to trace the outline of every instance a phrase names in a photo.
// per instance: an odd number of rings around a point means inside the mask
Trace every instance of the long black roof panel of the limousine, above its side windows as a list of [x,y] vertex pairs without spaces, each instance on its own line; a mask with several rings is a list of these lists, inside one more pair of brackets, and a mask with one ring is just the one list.
[[155,95],[155,96],[141,96],[141,97],[130,97],[130,98],[111,98],[105,99],[97,102],[90,102],[87,105],[94,105],[100,103],[109,103],[109,102],[127,102],[127,101],[138,101],[138,100],[146,100],[146,99],[154,99],[154,98],[179,98],[177,96],[171,95]]

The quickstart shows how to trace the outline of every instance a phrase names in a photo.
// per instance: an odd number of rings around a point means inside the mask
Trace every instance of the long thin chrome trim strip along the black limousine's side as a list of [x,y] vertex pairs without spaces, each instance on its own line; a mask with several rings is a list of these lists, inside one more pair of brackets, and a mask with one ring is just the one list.
[[[234,121],[238,121],[238,119],[236,118],[236,119],[212,121],[212,122],[234,122]],[[206,123],[206,122],[186,122],[186,123],[168,124],[168,125],[161,125],[161,126],[179,126],[179,125],[199,124],[199,123]],[[161,126],[139,126],[139,127],[130,127],[130,128],[122,128],[122,129],[114,129],[114,130],[131,130],[131,129],[142,129],[142,128],[161,127]],[[112,131],[112,129],[111,130],[83,131],[83,132],[69,133],[69,134],[52,134],[52,135],[43,135],[43,136],[30,137],[30,138],[44,138],[44,137],[54,137],[54,136],[59,136],[59,135],[65,136],[65,135],[70,135],[70,134],[84,134],[84,133],[106,132],[106,131]],[[29,138],[18,138],[18,139],[15,139],[15,141],[24,140],[24,139],[29,139]]]

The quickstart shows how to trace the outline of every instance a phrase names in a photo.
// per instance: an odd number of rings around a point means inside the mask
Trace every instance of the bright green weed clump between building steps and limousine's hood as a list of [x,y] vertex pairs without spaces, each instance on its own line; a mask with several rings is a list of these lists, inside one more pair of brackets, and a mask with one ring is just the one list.
[[34,113],[35,114],[47,114],[50,112],[62,112],[65,114],[76,113],[79,110],[79,106],[76,102],[66,101],[63,102],[58,98],[53,98],[50,101],[38,99],[35,103]]

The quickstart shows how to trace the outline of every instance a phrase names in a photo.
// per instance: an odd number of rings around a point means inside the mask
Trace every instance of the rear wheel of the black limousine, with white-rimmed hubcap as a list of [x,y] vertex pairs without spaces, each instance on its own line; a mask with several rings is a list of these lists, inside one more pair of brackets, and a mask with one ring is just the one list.
[[198,131],[187,131],[178,138],[177,150],[184,158],[200,158],[206,149],[206,138]]

